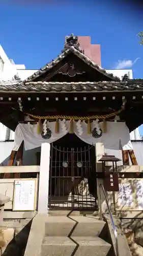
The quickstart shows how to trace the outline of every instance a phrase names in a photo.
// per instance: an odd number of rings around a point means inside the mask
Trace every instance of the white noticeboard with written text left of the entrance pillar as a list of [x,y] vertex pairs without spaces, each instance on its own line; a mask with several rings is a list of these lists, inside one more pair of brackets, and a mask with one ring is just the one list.
[[13,211],[33,211],[36,207],[36,180],[16,180],[14,183]]

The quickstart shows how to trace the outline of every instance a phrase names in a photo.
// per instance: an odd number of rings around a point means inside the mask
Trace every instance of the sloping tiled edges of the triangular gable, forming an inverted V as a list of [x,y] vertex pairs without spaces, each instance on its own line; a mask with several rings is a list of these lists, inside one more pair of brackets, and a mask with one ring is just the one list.
[[102,69],[100,66],[98,66],[93,60],[91,60],[89,57],[85,56],[83,53],[75,49],[74,46],[71,46],[67,50],[64,50],[58,57],[53,59],[51,62],[47,63],[46,66],[35,72],[33,75],[26,78],[24,81],[32,81],[33,79],[38,78],[40,75],[46,73],[49,71],[52,67],[54,67],[57,63],[59,63],[62,59],[64,59],[69,53],[73,52],[75,55],[77,55],[80,59],[82,59],[85,63],[87,63],[89,66],[93,67],[95,70],[98,70],[100,73],[106,75],[111,80],[120,81],[119,77],[113,76],[113,74],[107,73],[104,69]]

